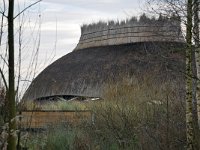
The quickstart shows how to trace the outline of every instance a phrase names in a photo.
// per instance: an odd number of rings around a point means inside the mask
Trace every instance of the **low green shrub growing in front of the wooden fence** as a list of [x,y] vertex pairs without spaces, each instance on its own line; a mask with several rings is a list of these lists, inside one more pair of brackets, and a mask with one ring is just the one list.
[[49,126],[46,130],[29,132],[23,146],[30,150],[88,150],[90,149],[89,138],[81,128],[67,124]]

